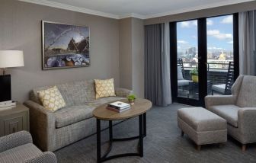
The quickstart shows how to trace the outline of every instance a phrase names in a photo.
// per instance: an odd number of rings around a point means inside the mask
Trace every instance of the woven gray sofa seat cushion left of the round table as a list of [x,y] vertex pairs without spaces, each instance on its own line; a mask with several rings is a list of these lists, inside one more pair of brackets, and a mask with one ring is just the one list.
[[56,117],[56,128],[69,126],[73,123],[91,118],[94,108],[89,105],[74,105],[57,110],[54,113]]

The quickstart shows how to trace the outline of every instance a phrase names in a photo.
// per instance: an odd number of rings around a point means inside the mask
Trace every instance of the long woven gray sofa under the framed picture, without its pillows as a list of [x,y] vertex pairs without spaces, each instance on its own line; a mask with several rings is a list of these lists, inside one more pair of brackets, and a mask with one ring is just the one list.
[[[131,93],[124,88],[115,88],[116,97],[95,100],[93,80],[56,86],[66,101],[66,107],[53,113],[42,106],[37,91],[50,87],[35,88],[30,92],[30,100],[24,103],[30,108],[30,133],[35,145],[43,151],[56,151],[96,133],[96,120],[92,115],[94,108],[123,99]],[[107,122],[101,124],[101,129],[107,127]]]

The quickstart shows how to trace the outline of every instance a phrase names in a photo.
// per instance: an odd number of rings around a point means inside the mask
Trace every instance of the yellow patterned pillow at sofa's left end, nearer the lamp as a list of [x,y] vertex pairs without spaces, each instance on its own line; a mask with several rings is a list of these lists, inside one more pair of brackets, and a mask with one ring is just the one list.
[[60,94],[58,88],[54,86],[43,91],[37,91],[40,101],[47,110],[56,111],[62,107],[66,107],[66,103]]

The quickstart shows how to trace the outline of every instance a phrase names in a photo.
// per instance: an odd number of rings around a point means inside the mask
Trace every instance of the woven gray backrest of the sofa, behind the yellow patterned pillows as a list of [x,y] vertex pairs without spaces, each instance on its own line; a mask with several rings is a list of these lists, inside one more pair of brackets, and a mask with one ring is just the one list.
[[[59,89],[59,92],[62,94],[62,97],[64,98],[67,106],[85,104],[86,102],[94,101],[95,99],[95,88],[93,80],[69,82],[56,86]],[[51,87],[53,86],[35,88],[30,92],[30,100],[41,104],[37,91],[42,91]]]

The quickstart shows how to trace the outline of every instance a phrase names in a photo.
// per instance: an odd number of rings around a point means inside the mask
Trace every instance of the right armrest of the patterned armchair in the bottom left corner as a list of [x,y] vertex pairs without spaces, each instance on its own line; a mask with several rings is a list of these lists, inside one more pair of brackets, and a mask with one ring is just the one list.
[[43,163],[56,163],[57,158],[56,155],[53,152],[43,152],[40,155],[36,155],[33,158],[29,158],[26,163],[38,163],[38,162],[43,162]]

